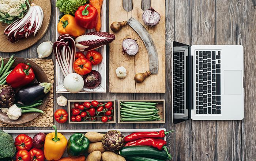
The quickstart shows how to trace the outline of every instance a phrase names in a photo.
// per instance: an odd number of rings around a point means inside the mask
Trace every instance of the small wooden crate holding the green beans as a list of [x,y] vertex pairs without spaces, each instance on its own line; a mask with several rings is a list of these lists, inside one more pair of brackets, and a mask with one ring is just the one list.
[[[158,102],[157,109],[159,109],[159,116],[161,121],[120,121],[120,102]],[[118,100],[118,123],[165,123],[165,99],[119,99]]]

